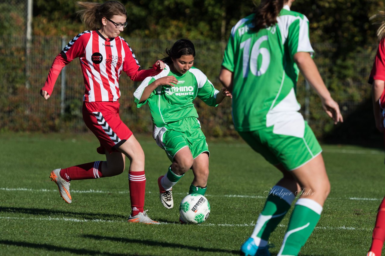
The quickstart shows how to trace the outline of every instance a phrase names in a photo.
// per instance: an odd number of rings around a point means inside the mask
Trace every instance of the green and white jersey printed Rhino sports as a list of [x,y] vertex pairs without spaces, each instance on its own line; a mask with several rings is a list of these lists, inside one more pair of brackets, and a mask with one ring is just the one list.
[[[151,92],[150,97],[139,103],[144,89],[158,78],[174,76],[178,80],[175,86],[158,86]],[[198,68],[192,67],[185,74],[173,73],[169,66],[156,76],[147,77],[134,92],[134,101],[137,107],[148,102],[152,122],[156,127],[164,127],[166,124],[176,122],[186,117],[198,118],[194,107],[194,99],[199,97],[209,106],[218,106],[216,96],[218,94],[207,76]]]

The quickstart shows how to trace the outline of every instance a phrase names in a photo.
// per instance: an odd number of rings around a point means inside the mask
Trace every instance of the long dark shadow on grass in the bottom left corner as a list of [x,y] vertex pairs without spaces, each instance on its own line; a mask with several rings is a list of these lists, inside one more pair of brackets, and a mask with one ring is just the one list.
[[[0,244],[25,247],[25,248],[43,249],[43,250],[54,251],[54,252],[74,253],[74,254],[122,255],[122,256],[129,255],[129,254],[119,254],[119,253],[108,253],[105,251],[93,251],[93,250],[87,250],[87,249],[67,248],[67,247],[55,246],[52,244],[37,244],[37,243],[28,243],[28,242],[10,241],[10,240],[0,240]],[[139,254],[132,254],[132,255],[139,255]]]

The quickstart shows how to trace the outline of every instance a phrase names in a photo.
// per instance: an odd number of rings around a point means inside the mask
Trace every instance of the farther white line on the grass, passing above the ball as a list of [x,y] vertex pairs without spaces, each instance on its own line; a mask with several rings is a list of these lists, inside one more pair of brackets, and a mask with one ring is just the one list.
[[[26,192],[55,192],[57,193],[57,189],[33,189],[33,188],[0,188],[0,190],[3,191],[26,191]],[[109,190],[71,190],[71,193],[102,193],[102,194],[108,194],[108,193],[118,193],[118,194],[128,194],[128,191],[109,191]],[[151,191],[146,192],[151,194]],[[173,193],[174,195],[187,195],[187,193]],[[206,196],[208,197],[237,197],[237,198],[259,198],[259,199],[266,199],[266,196],[259,196],[259,195],[211,195],[207,194]],[[342,198],[342,197],[329,197],[329,200],[333,199],[340,199],[340,200],[357,200],[357,201],[381,201],[383,198],[360,198],[360,197],[347,197],[347,198]]]

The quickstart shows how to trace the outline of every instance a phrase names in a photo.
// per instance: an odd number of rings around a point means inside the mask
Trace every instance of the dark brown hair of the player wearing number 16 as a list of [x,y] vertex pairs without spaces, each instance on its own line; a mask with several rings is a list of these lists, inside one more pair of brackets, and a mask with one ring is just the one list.
[[254,11],[253,30],[259,31],[277,23],[277,17],[285,2],[285,0],[261,0],[261,4]]

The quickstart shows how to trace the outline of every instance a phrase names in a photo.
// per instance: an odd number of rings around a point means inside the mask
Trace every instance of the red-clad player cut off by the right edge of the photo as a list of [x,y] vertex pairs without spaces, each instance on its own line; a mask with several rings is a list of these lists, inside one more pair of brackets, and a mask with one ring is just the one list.
[[[372,72],[370,72],[369,83],[372,84],[373,112],[376,127],[380,132],[384,132],[385,115],[385,12],[379,12],[374,17],[382,18],[377,36],[380,40],[377,55],[375,56]],[[385,135],[384,135],[385,138]],[[385,240],[385,198],[378,207],[377,219],[372,236],[368,256],[380,256]]]

